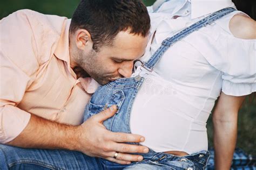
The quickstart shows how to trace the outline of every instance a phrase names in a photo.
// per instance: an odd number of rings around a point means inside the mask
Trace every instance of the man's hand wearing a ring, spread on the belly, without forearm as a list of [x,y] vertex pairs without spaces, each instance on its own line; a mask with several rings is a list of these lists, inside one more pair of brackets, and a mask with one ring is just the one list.
[[[112,117],[116,111],[116,106],[112,106],[90,117],[80,125],[77,150],[91,157],[100,157],[119,164],[129,164],[130,161],[142,160],[141,155],[127,153],[147,153],[149,151],[147,147],[124,143],[139,143],[145,140],[144,137],[137,134],[111,132],[103,125],[103,122]],[[114,159],[116,152],[118,155]]]

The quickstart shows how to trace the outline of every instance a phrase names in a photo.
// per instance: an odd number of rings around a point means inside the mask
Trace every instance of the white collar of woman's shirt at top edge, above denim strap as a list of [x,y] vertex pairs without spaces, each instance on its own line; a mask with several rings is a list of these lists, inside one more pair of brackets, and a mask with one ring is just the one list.
[[191,0],[191,18],[203,17],[228,7],[235,8],[231,0]]

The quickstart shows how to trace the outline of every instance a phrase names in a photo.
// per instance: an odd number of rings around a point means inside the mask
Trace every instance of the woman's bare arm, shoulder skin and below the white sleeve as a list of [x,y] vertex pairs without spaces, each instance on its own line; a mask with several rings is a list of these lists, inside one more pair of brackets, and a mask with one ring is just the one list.
[[[256,39],[256,22],[237,14],[230,20],[230,31],[240,39]],[[221,93],[213,112],[215,169],[230,169],[237,141],[238,110],[245,96],[235,97]]]

